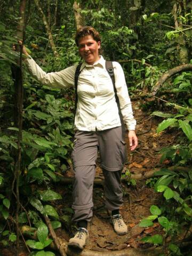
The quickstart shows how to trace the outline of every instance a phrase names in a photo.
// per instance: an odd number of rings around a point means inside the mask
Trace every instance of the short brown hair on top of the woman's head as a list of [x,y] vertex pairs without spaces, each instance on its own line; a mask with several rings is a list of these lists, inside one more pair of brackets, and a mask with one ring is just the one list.
[[96,42],[99,42],[99,41],[101,42],[99,32],[96,29],[94,29],[93,27],[86,26],[86,27],[80,27],[79,29],[77,29],[77,32],[75,35],[76,45],[78,46],[78,41],[80,38],[89,36],[89,35],[92,36]]

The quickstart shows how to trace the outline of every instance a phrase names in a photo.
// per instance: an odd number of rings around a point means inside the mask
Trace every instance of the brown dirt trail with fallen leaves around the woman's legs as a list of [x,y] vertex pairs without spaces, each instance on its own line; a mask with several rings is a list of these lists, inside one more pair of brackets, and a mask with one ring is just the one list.
[[[172,145],[177,134],[173,131],[171,133],[161,132],[156,133],[159,120],[142,111],[139,101],[133,101],[133,110],[135,119],[137,119],[137,135],[139,139],[138,148],[130,154],[129,141],[127,141],[127,153],[129,155],[129,161],[127,162],[124,171],[129,170],[132,174],[146,173],[155,168],[165,166],[166,162],[159,164],[161,154],[158,154],[165,146]],[[126,138],[127,140],[127,138]],[[67,173],[67,177],[71,177],[71,172]],[[100,167],[97,167],[97,173],[95,178],[103,178]],[[129,232],[127,235],[118,236],[114,232],[110,224],[110,214],[107,212],[104,206],[104,195],[102,186],[94,186],[93,190],[93,219],[89,223],[90,242],[86,245],[85,249],[95,251],[109,251],[109,250],[122,250],[127,247],[144,249],[152,246],[152,244],[145,244],[140,239],[147,235],[155,235],[162,233],[162,228],[155,223],[153,227],[142,228],[139,227],[140,221],[150,215],[149,208],[151,205],[159,205],[161,203],[161,195],[154,192],[154,189],[150,187],[154,182],[154,179],[148,180],[136,180],[136,185],[123,183],[124,191],[124,205],[121,207],[121,214],[124,221],[127,224]],[[65,238],[67,241],[75,229],[71,229],[71,185],[61,185],[52,188],[62,195],[62,200],[54,203],[57,207],[58,213],[62,216],[63,227],[65,230],[58,229],[57,235],[61,238]],[[8,250],[10,252],[10,250]],[[14,255],[7,254],[7,249],[3,249],[0,253],[2,256]],[[27,253],[21,254],[22,256],[28,255]],[[59,255],[59,254],[58,254]]]

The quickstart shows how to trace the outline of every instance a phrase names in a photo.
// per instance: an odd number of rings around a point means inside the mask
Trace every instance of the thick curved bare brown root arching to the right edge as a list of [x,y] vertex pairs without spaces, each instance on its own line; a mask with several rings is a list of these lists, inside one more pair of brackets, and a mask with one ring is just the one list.
[[167,79],[169,79],[171,76],[173,76],[181,71],[184,71],[184,70],[185,71],[192,70],[192,64],[184,64],[184,65],[181,65],[181,66],[178,66],[178,67],[175,67],[175,68],[172,68],[172,69],[166,71],[163,74],[163,76],[161,76],[158,79],[158,81],[153,89],[152,94],[155,95],[157,93],[158,89],[165,83],[165,81]]

